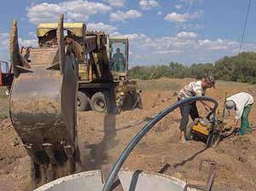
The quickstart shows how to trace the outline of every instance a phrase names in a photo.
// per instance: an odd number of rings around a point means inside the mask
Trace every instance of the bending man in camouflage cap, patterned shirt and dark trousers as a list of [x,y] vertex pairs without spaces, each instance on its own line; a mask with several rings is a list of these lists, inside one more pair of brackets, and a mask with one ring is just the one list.
[[[177,100],[180,101],[180,100],[189,98],[191,96],[205,96],[206,90],[212,87],[215,88],[215,79],[212,76],[202,78],[200,81],[190,82],[183,88],[183,90],[180,90],[180,92],[177,95]],[[204,101],[201,101],[201,103],[204,105],[204,107],[207,110],[212,109]],[[199,118],[199,113],[197,111],[195,102],[192,102],[190,104],[184,105],[183,107],[180,107],[180,113],[182,116],[180,126],[179,126],[180,142],[184,143],[186,142],[185,130],[189,123],[189,115],[193,120],[195,120]]]

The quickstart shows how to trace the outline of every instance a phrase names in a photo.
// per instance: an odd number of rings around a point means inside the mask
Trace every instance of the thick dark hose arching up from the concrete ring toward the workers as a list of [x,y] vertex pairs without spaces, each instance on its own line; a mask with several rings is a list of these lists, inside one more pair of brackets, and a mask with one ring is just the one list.
[[173,110],[177,109],[177,107],[181,107],[185,104],[189,104],[191,102],[200,101],[200,100],[201,101],[211,101],[211,102],[214,103],[214,107],[212,108],[212,113],[215,112],[215,110],[218,107],[218,102],[216,100],[214,100],[213,98],[211,98],[211,97],[193,96],[193,97],[190,97],[190,98],[187,98],[187,99],[184,99],[184,100],[177,101],[172,106],[167,107],[165,110],[158,113],[154,117],[154,119],[152,119],[150,122],[148,122],[148,124],[143,126],[142,130],[140,130],[137,133],[137,135],[131,140],[131,142],[125,148],[123,153],[121,153],[121,155],[119,156],[119,159],[117,160],[115,165],[113,165],[113,168],[110,171],[107,182],[104,184],[104,187],[103,187],[102,191],[111,191],[114,179],[118,175],[118,172],[119,172],[121,166],[125,163],[125,160],[128,158],[128,156],[130,155],[133,148],[135,148],[137,143],[142,140],[143,136],[145,136],[148,133],[148,131],[151,130],[151,128],[154,126],[154,124],[159,122],[160,119],[163,119],[168,113],[171,113]]

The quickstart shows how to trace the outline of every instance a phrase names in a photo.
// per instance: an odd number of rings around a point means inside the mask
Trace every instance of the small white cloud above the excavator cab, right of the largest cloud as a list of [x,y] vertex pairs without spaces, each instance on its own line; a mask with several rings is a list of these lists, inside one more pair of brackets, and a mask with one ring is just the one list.
[[137,10],[128,10],[126,12],[118,10],[116,13],[109,15],[111,21],[125,21],[130,19],[136,19],[141,17],[143,14]]

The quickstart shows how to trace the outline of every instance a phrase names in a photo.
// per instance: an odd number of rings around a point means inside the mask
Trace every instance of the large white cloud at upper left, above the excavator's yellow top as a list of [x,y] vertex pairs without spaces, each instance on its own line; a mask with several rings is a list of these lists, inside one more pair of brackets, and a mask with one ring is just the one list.
[[27,8],[27,17],[33,24],[41,22],[56,22],[59,14],[64,13],[67,21],[88,20],[91,14],[109,12],[110,6],[103,3],[84,0],[65,1],[62,3],[32,4]]

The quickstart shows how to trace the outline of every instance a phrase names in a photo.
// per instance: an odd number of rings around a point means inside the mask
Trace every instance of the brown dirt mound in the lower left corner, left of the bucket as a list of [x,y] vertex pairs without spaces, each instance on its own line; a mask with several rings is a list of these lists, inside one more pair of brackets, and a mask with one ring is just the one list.
[[0,124],[0,135],[0,190],[27,190],[30,159],[9,119]]

